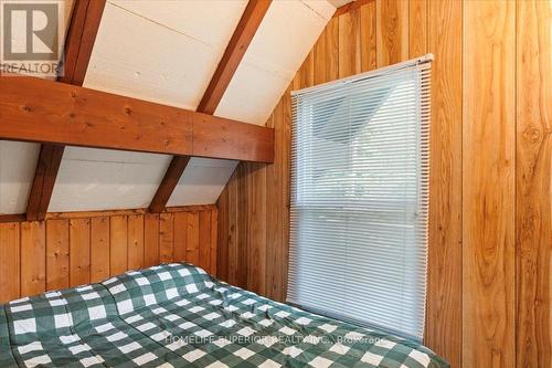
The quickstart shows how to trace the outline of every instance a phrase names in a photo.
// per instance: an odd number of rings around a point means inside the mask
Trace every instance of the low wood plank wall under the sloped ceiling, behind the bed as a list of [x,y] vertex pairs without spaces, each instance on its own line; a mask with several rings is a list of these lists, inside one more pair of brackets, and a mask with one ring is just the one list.
[[49,217],[0,223],[0,304],[163,262],[216,273],[215,206]]

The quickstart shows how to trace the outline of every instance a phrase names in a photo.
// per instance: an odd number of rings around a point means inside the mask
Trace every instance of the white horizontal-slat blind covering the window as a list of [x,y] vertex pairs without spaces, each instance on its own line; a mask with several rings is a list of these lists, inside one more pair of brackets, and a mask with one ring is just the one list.
[[418,340],[431,60],[293,93],[288,302]]

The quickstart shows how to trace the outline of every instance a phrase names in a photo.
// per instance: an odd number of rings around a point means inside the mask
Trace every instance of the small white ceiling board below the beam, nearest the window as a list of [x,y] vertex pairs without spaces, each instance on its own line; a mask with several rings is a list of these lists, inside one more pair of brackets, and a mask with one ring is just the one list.
[[168,206],[216,202],[237,161],[192,158],[174,188]]

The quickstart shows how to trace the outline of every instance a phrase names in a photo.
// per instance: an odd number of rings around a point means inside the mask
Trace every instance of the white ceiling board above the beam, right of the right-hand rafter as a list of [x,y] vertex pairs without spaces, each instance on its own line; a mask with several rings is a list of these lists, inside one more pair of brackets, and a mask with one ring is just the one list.
[[264,125],[335,10],[327,1],[273,1],[215,115]]

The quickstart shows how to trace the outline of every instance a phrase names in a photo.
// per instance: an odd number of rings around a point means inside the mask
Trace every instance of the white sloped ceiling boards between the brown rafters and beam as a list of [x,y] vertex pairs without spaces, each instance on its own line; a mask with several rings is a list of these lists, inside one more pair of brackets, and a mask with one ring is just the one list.
[[[246,0],[108,0],[85,87],[195,109]],[[264,125],[336,7],[276,0],[215,115]],[[39,145],[0,141],[0,213],[25,211]],[[67,147],[49,211],[149,206],[170,156]],[[214,203],[237,162],[193,158],[168,206]]]

